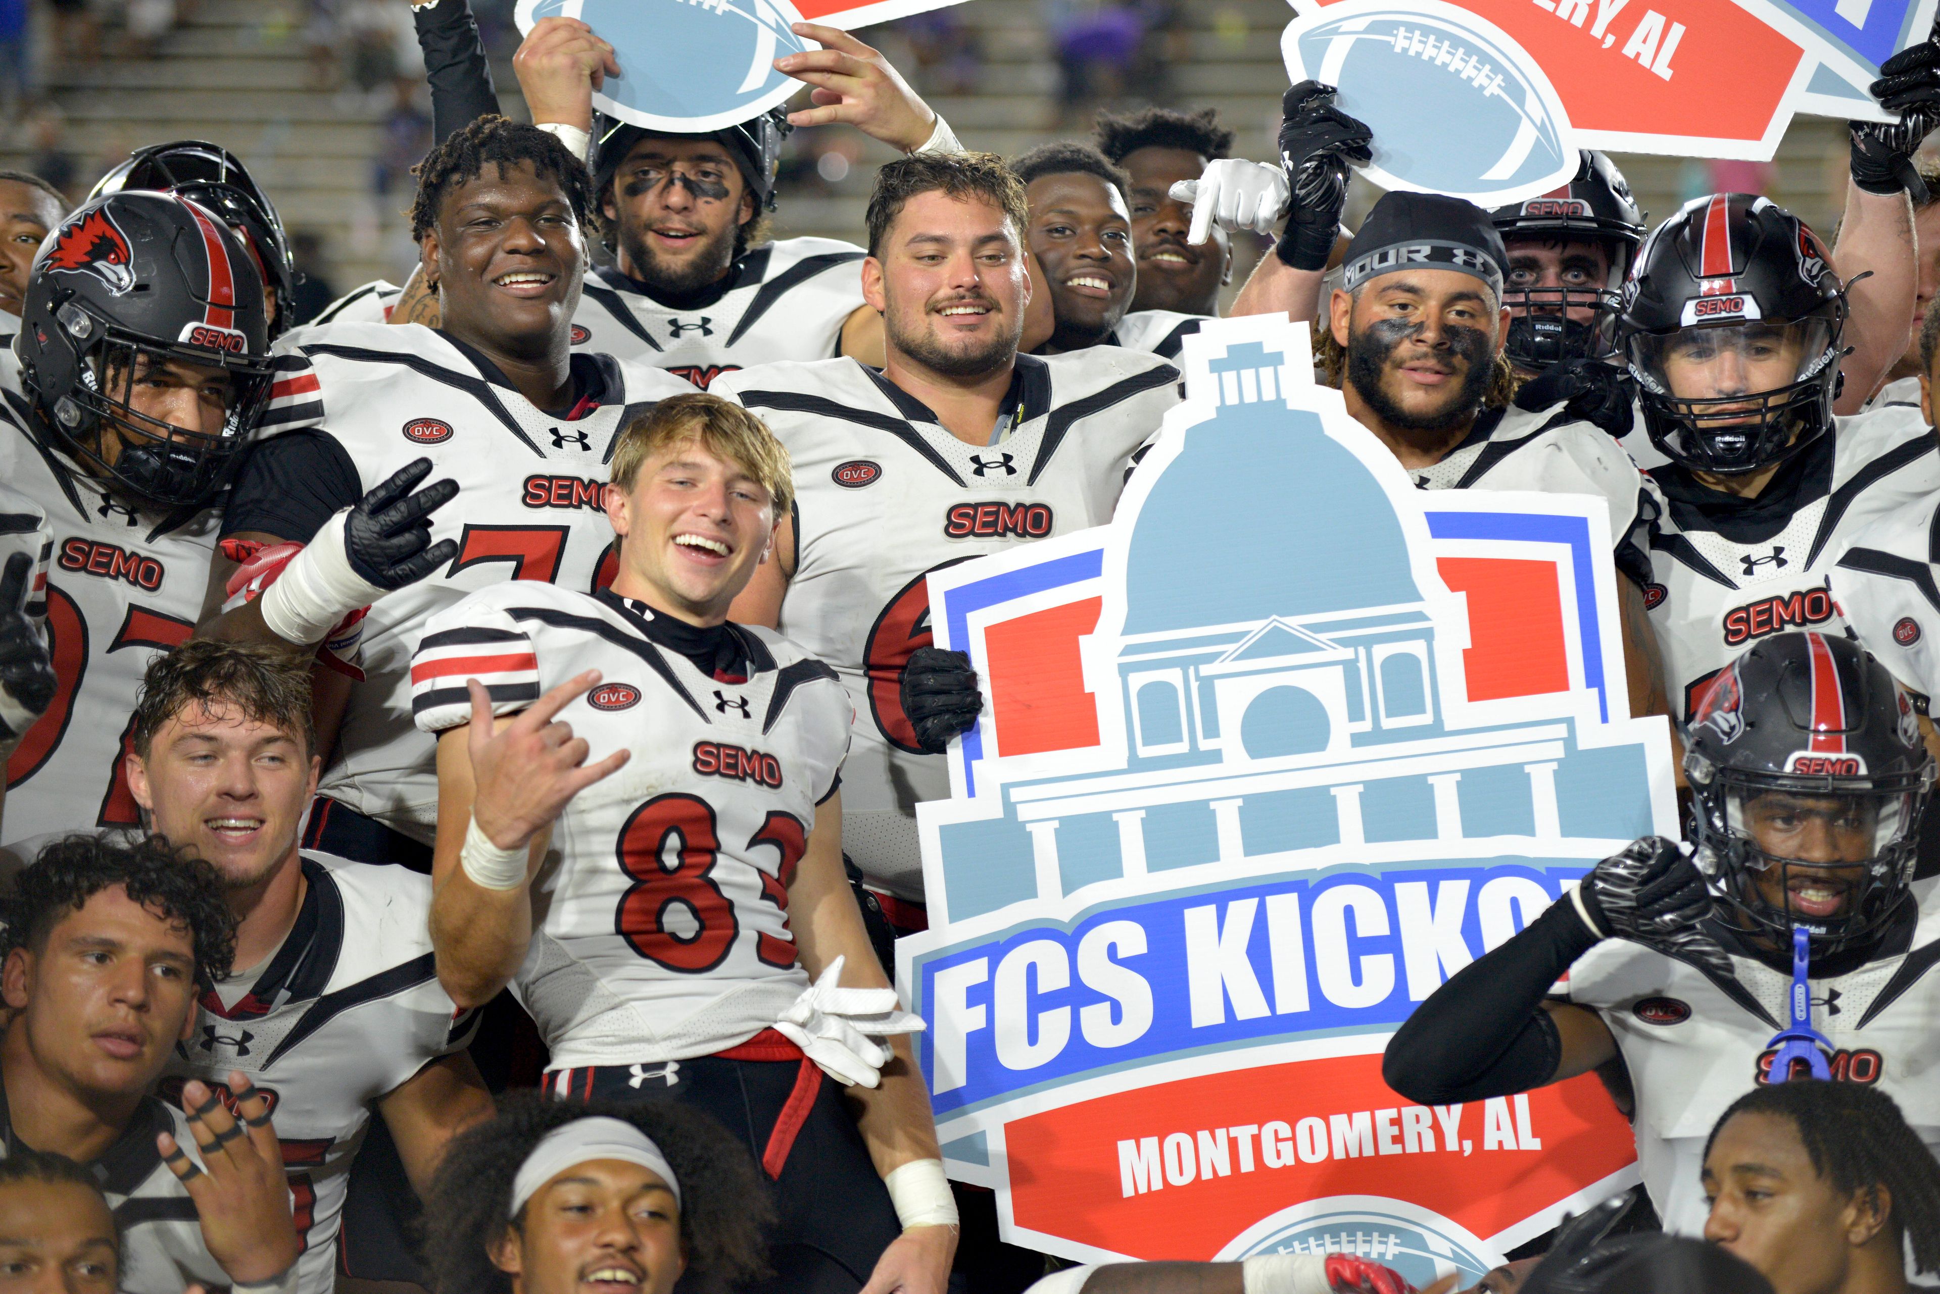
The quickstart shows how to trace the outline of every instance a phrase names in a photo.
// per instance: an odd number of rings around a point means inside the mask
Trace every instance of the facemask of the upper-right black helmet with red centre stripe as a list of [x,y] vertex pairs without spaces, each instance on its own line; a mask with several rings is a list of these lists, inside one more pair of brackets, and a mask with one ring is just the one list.
[[1734,475],[1779,464],[1826,435],[1839,380],[1839,305],[1829,318],[1632,332],[1624,359],[1651,442],[1694,471]]

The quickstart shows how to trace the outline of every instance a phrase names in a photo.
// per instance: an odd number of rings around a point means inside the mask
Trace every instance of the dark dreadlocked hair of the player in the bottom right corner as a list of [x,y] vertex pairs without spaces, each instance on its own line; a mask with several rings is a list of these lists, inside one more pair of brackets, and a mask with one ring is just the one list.
[[1917,1271],[1940,1271],[1940,1160],[1886,1092],[1859,1083],[1796,1079],[1754,1086],[1711,1125],[1711,1143],[1732,1117],[1769,1114],[1798,1129],[1812,1168],[1847,1199],[1888,1197],[1888,1226],[1913,1244]]

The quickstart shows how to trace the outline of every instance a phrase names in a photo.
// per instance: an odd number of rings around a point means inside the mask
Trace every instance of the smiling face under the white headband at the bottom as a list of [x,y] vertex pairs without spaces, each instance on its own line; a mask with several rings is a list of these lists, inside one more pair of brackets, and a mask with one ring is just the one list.
[[687,1271],[681,1211],[650,1168],[574,1164],[526,1201],[493,1263],[512,1294],[671,1294]]

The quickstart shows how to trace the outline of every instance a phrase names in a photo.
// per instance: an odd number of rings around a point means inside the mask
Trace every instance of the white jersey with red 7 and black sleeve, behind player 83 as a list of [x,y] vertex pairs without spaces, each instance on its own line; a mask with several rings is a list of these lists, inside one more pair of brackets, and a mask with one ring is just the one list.
[[660,369],[605,355],[574,355],[574,367],[596,396],[553,415],[421,324],[328,324],[277,341],[264,423],[281,435],[258,444],[241,471],[231,534],[308,541],[417,458],[435,464],[427,483],[458,481],[458,497],[431,514],[433,543],[452,539],[458,557],[371,609],[365,679],[353,685],[320,788],[425,844],[436,834],[438,778],[433,741],[411,726],[407,677],[425,619],[504,580],[582,592],[611,580],[601,497],[613,435],[630,411],[693,392]]

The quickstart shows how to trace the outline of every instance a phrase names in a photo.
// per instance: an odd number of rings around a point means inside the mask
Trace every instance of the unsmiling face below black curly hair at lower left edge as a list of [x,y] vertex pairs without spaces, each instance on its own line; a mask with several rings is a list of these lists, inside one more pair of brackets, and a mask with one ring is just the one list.
[[54,922],[45,943],[16,949],[0,974],[35,1067],[107,1100],[138,1096],[188,1036],[196,1007],[188,929],[113,885]]

